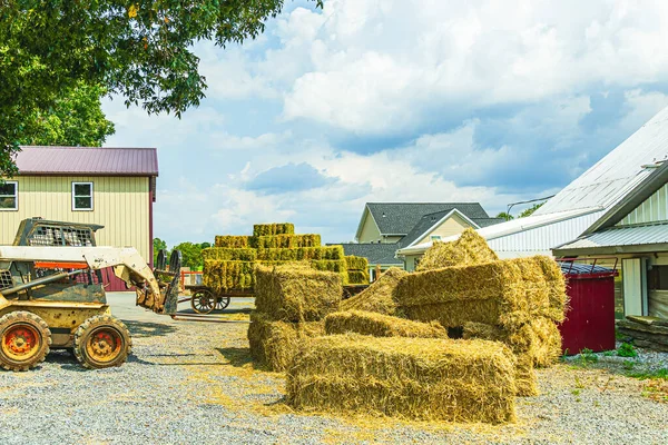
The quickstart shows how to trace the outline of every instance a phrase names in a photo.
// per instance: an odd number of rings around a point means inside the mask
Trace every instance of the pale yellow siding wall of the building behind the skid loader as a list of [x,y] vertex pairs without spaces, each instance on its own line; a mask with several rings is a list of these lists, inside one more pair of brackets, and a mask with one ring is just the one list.
[[[135,247],[150,260],[149,184],[144,177],[40,177],[18,176],[19,209],[0,211],[0,244],[12,244],[19,222],[45,219],[92,222],[98,246]],[[72,211],[72,182],[92,182],[94,210]]]

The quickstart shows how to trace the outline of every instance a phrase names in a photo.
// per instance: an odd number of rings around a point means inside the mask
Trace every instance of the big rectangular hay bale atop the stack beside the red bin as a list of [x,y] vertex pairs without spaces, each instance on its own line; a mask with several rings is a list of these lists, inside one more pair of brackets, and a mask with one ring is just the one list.
[[553,288],[539,259],[517,258],[410,274],[400,280],[396,300],[411,319],[445,327],[466,322],[510,327],[558,315],[549,297]]

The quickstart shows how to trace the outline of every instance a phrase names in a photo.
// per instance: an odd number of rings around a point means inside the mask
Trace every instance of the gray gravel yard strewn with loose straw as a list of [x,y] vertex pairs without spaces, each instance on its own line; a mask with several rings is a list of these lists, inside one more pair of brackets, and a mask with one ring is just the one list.
[[[647,382],[573,364],[539,370],[541,395],[518,398],[512,425],[289,413],[283,375],[249,362],[247,325],[174,322],[126,295],[110,301],[132,333],[130,360],[91,372],[58,352],[31,372],[0,373],[0,444],[668,443],[668,404],[644,395]],[[226,318],[246,318],[232,309]]]

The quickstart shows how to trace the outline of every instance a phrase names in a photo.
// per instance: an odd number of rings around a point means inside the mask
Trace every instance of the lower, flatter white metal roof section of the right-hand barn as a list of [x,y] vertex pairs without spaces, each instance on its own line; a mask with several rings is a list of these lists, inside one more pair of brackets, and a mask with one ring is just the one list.
[[[550,253],[552,247],[568,243],[582,235],[601,214],[602,211],[597,211],[499,238],[488,239],[488,244],[499,255],[509,253],[513,254],[511,256],[530,256],[537,251]],[[517,255],[514,255],[515,253]],[[507,255],[503,256],[505,257]]]

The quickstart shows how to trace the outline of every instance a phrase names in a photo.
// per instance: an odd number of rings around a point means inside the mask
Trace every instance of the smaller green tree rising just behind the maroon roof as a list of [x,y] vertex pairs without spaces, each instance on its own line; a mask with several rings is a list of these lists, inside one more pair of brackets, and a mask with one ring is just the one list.
[[101,87],[80,83],[59,98],[55,107],[45,112],[35,111],[26,117],[31,130],[19,142],[40,146],[100,147],[107,136],[114,135],[114,122],[102,112]]

